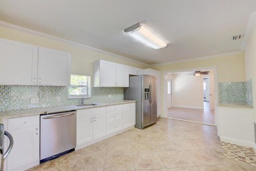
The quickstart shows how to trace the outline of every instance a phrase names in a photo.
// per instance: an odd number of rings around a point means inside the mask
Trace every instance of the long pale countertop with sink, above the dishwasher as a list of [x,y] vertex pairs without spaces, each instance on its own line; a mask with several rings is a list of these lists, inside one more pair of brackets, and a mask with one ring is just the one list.
[[124,103],[132,103],[132,102],[136,102],[136,101],[134,101],[134,100],[118,100],[118,101],[97,102],[96,104],[98,104],[98,105],[91,105],[91,106],[66,105],[66,106],[38,107],[38,108],[31,108],[31,109],[9,110],[9,111],[3,111],[0,113],[0,121],[2,123],[3,119],[14,118],[14,117],[40,115],[40,114],[45,114],[45,113],[87,109],[87,108],[92,108],[92,107],[118,105],[118,104],[124,104]]

